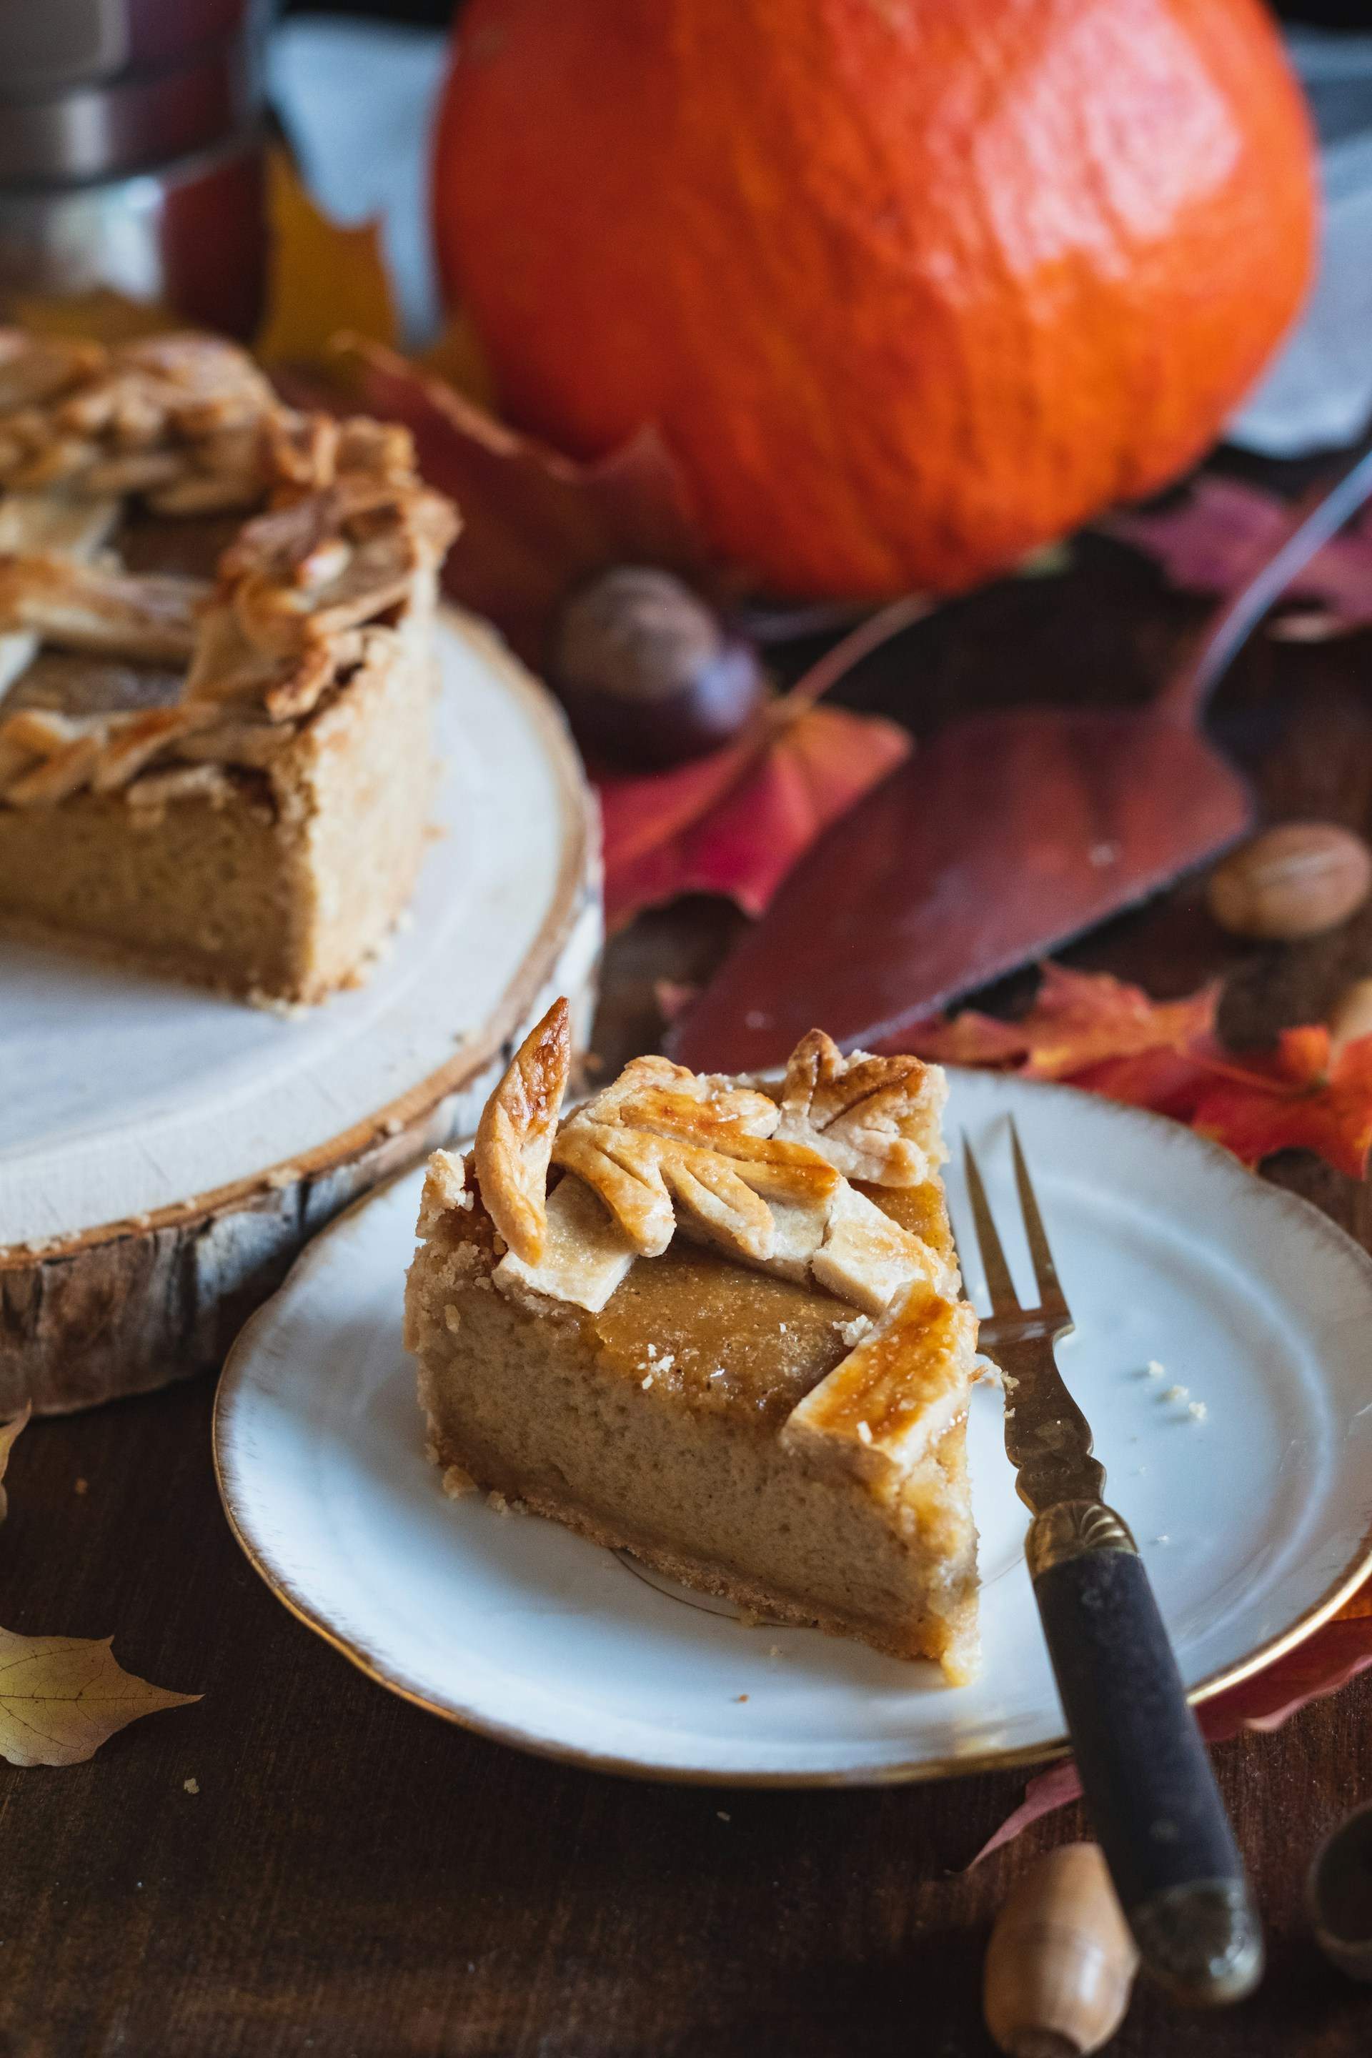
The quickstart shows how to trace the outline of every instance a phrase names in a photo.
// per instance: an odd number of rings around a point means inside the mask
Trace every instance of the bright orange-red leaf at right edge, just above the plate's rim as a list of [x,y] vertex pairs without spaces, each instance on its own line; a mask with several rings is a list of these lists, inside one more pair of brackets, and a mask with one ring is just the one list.
[[1207,1064],[1191,1124],[1244,1165],[1273,1150],[1319,1150],[1362,1179],[1372,1150],[1372,1035],[1345,1043],[1331,1062],[1329,1029],[1286,1029],[1267,1058]]

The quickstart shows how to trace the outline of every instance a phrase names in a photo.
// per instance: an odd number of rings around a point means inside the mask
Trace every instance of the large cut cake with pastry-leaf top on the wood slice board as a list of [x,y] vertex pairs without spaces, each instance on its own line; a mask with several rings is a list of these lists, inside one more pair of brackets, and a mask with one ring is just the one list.
[[424,856],[455,533],[403,428],[230,344],[0,329],[0,932],[274,1004],[362,980]]

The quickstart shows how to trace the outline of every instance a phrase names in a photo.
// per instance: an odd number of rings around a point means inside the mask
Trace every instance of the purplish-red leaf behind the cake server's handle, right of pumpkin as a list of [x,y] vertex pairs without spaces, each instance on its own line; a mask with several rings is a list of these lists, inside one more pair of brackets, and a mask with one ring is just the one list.
[[[1205,473],[1177,506],[1115,514],[1107,533],[1156,558],[1183,593],[1230,595],[1271,556],[1290,514],[1261,486]],[[1323,601],[1341,628],[1372,622],[1372,521],[1325,543],[1286,597]]]

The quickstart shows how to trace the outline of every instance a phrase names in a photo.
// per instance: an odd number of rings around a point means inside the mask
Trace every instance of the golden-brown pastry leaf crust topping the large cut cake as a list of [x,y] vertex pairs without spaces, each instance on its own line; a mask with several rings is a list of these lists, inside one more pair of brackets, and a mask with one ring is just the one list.
[[[245,745],[243,726],[290,735],[366,663],[364,626],[413,603],[457,533],[405,430],[300,416],[243,352],[202,335],[103,350],[0,331],[0,636],[189,667],[183,720],[154,751],[146,726],[125,739],[123,712],[80,739],[0,718],[10,807],[119,790],[173,766],[191,733],[200,764],[265,761],[267,739]],[[171,514],[267,510],[210,584],[88,562],[109,521],[72,525],[70,510],[130,494]]]

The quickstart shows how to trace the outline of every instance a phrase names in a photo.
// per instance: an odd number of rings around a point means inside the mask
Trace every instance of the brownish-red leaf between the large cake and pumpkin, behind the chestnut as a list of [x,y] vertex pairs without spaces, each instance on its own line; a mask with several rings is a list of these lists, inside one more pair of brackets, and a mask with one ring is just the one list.
[[420,469],[463,510],[444,589],[490,615],[531,665],[553,609],[611,564],[662,564],[699,580],[706,547],[681,473],[652,428],[594,463],[522,436],[393,350],[352,346],[356,401],[403,422]]

